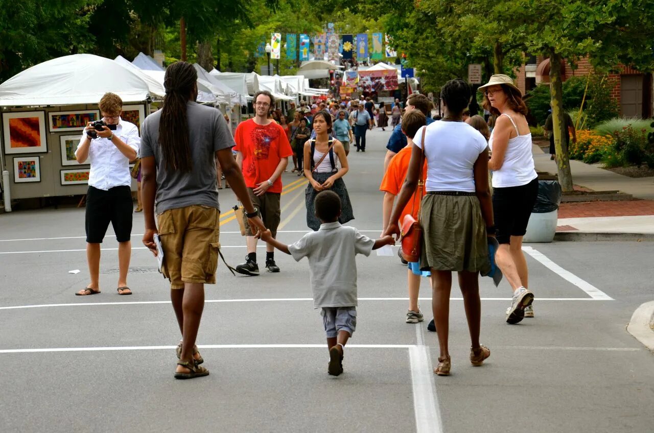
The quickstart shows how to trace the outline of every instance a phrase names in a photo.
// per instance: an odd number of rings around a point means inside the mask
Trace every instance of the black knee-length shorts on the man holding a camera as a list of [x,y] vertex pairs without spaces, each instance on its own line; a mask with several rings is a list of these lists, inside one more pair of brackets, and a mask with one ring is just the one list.
[[114,186],[108,191],[89,186],[86,192],[86,242],[102,243],[109,222],[114,227],[116,241],[129,241],[132,212],[129,186]]

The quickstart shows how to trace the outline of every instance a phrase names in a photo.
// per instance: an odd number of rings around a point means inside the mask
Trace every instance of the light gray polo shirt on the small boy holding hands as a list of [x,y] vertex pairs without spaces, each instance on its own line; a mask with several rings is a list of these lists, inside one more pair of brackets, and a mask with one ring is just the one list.
[[309,258],[313,307],[356,306],[356,254],[370,256],[375,240],[339,222],[321,224],[288,245],[296,261]]

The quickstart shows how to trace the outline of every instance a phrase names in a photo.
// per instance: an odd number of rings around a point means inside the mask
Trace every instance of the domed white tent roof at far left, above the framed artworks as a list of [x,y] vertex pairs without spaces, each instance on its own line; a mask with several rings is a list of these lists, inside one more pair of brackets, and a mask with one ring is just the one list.
[[97,104],[106,92],[140,102],[148,96],[148,85],[111,59],[73,54],[44,61],[0,84],[0,105]]

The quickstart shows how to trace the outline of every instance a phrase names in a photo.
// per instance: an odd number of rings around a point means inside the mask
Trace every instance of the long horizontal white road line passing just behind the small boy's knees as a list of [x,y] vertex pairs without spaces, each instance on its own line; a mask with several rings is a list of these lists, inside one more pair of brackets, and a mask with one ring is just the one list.
[[[360,301],[408,301],[409,298],[358,298]],[[431,301],[432,298],[419,298],[420,301]],[[462,301],[463,298],[450,298],[451,301]],[[482,301],[511,301],[511,298],[481,298]],[[593,298],[535,298],[538,302],[542,301],[598,301]],[[293,301],[313,301],[313,298],[257,298],[257,299],[207,299],[205,303],[224,303],[224,302],[293,302]],[[26,309],[26,308],[44,308],[44,307],[97,307],[103,305],[147,305],[157,303],[170,303],[170,301],[133,301],[133,302],[75,302],[75,303],[41,303],[36,305],[12,305],[9,307],[0,307],[0,310]]]

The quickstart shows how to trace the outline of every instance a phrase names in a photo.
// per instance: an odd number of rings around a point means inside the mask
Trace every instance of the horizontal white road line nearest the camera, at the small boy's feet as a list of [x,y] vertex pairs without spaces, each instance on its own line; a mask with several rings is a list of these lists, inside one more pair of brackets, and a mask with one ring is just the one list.
[[[44,349],[1,349],[0,353],[43,352],[100,352],[100,351],[158,351],[177,346],[122,346],[122,347],[50,347]],[[347,349],[411,349],[412,344],[349,344]],[[324,349],[322,344],[203,344],[199,349]]]

